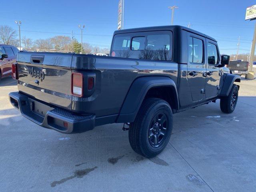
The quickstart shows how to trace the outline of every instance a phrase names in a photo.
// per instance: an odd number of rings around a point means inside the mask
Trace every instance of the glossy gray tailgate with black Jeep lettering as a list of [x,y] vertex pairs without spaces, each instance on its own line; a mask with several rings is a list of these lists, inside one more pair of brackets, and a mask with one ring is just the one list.
[[18,53],[18,90],[71,110],[72,56],[65,53]]

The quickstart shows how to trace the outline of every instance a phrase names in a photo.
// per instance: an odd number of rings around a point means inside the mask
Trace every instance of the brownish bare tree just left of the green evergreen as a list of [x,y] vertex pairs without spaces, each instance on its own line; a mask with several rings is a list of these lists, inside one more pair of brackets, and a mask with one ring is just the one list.
[[54,45],[54,48],[56,50],[69,50],[69,45],[71,43],[71,38],[68,36],[55,36],[53,38],[51,38],[51,42]]

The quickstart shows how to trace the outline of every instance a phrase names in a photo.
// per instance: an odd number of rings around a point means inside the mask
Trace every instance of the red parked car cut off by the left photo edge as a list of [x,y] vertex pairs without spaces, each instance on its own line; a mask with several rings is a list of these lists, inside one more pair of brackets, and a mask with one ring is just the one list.
[[18,48],[0,44],[0,80],[12,75],[12,63],[16,61]]

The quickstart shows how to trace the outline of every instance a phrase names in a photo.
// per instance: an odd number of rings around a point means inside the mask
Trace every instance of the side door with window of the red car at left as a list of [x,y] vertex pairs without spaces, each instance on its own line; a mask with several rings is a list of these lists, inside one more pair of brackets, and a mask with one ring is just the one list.
[[3,46],[8,58],[4,58],[4,65],[2,66],[2,75],[10,76],[12,74],[12,63],[15,62],[15,55],[10,46]]

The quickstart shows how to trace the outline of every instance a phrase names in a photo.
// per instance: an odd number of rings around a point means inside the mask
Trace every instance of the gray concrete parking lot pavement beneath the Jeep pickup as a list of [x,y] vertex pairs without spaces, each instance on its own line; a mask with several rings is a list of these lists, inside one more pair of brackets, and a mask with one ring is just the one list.
[[256,191],[256,80],[242,80],[236,110],[216,104],[174,114],[164,152],[133,152],[122,124],[83,134],[37,126],[12,108],[0,82],[0,191]]

